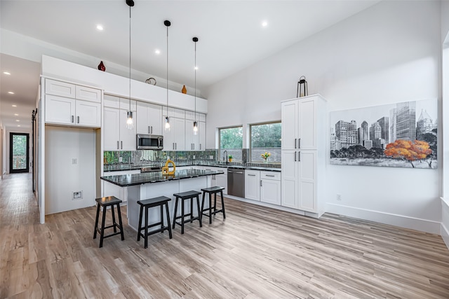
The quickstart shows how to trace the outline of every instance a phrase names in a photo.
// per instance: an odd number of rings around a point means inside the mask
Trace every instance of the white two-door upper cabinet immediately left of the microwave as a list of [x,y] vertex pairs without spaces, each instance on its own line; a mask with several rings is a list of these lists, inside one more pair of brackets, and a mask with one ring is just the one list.
[[[134,104],[131,105],[131,109],[135,109],[135,101],[132,100],[132,103],[133,102]],[[126,104],[124,104],[124,106],[126,106]],[[131,130],[126,127],[128,109],[117,109],[108,106],[105,106],[103,109],[103,116],[105,119],[102,131],[104,134],[103,148],[105,151],[135,151],[136,126],[134,123],[134,127]],[[133,111],[134,122],[137,117],[138,113]]]

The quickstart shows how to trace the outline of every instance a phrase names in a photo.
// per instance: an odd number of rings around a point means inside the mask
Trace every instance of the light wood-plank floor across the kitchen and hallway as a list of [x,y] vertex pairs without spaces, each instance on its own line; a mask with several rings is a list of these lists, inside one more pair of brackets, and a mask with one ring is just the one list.
[[449,298],[449,250],[438,235],[225,204],[225,221],[152,235],[147,249],[126,224],[125,241],[107,238],[100,249],[95,207],[41,225],[31,176],[6,175],[0,298]]

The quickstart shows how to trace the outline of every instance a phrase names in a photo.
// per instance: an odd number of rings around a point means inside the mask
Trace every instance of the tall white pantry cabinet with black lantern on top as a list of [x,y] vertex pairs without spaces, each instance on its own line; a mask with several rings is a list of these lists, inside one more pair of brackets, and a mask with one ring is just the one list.
[[326,99],[310,95],[281,102],[281,205],[323,214],[326,172]]

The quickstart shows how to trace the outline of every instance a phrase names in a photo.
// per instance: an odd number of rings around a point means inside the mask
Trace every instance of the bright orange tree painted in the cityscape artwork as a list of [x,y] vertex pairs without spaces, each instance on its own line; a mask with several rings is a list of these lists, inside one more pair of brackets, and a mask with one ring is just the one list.
[[426,159],[432,150],[426,141],[398,139],[392,144],[387,144],[384,153],[391,158],[406,160],[415,168],[413,161]]

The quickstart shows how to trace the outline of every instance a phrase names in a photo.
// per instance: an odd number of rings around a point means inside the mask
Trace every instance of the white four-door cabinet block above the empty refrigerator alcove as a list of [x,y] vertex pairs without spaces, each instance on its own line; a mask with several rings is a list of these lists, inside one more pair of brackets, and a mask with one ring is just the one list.
[[46,79],[46,123],[101,127],[101,90]]

